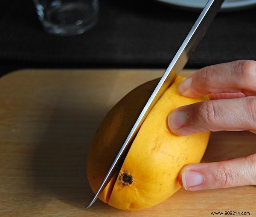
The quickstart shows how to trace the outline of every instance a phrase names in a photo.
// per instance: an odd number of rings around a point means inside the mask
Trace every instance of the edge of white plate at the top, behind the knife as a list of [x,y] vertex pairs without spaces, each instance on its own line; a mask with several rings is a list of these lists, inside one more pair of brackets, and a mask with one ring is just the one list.
[[[169,3],[174,6],[183,7],[186,9],[203,9],[207,0],[158,0]],[[256,6],[256,0],[225,0],[221,6],[222,11],[233,11],[247,9],[251,6]]]

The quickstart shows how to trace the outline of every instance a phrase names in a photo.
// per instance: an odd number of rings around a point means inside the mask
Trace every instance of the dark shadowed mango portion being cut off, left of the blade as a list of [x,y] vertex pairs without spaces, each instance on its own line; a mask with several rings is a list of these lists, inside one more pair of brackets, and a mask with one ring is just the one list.
[[[130,91],[113,106],[100,123],[90,144],[86,165],[87,179],[94,193],[98,190],[158,82],[159,79],[152,80]],[[115,179],[111,180],[111,183],[115,182]],[[99,195],[99,199],[105,203],[108,203],[112,191],[111,183]]]

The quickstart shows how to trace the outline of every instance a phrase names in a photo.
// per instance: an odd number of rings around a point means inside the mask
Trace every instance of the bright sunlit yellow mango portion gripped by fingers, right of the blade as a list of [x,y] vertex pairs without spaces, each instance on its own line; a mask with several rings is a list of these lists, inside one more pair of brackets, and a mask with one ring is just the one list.
[[178,94],[182,80],[178,78],[165,91],[143,122],[119,172],[130,174],[134,181],[125,186],[117,178],[109,205],[139,210],[161,203],[181,187],[177,181],[181,168],[201,161],[210,133],[176,136],[167,126],[168,114],[174,109],[206,99]]

